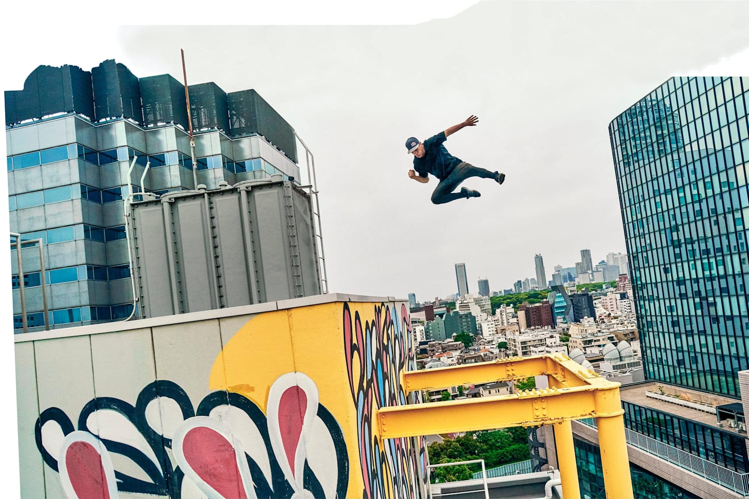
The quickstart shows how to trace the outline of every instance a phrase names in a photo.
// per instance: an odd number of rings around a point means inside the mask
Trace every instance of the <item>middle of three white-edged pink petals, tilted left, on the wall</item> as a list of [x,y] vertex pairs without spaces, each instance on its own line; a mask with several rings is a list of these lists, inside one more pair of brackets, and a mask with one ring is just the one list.
[[209,499],[255,499],[244,450],[217,420],[190,417],[179,426],[172,450],[180,468]]

